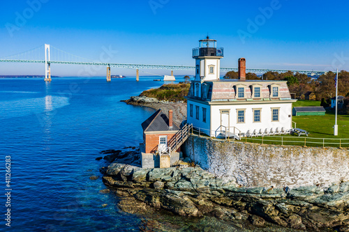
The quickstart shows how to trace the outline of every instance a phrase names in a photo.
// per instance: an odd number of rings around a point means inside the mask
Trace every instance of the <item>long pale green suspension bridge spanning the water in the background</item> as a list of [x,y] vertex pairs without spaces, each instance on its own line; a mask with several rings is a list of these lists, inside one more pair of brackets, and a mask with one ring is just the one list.
[[[195,70],[194,66],[186,65],[148,65],[148,64],[131,64],[131,63],[111,63],[111,62],[98,62],[85,59],[81,56],[76,56],[69,52],[65,52],[57,47],[50,45],[42,45],[34,49],[30,49],[20,54],[12,56],[6,56],[0,59],[0,62],[4,63],[44,63],[45,64],[45,82],[51,82],[51,64],[64,64],[64,65],[96,65],[107,67],[107,82],[111,81],[110,69],[111,68],[128,68],[136,71],[136,80],[139,81],[140,69],[163,69],[171,70]],[[235,71],[237,68],[221,68],[223,72]],[[246,72],[264,74],[266,72],[299,72],[305,75],[320,76],[325,74],[325,71],[314,70],[274,70],[274,69],[260,69],[260,68],[246,68]]]

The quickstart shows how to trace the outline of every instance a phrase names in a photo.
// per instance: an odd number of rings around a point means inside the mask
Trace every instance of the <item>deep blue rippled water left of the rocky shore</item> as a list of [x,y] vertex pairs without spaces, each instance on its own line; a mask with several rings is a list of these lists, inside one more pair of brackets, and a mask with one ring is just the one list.
[[138,231],[140,218],[98,193],[103,161],[95,158],[142,141],[140,123],[154,110],[120,100],[163,84],[153,79],[0,79],[0,230],[10,155],[10,231]]

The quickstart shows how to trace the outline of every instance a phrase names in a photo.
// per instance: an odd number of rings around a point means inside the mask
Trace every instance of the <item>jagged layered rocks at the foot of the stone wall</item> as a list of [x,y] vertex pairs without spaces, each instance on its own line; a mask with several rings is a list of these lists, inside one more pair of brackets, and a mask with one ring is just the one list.
[[274,231],[274,224],[292,231],[349,231],[349,182],[326,189],[246,188],[185,164],[142,169],[113,162],[101,172],[126,212],[147,215],[165,210],[186,218],[214,217],[235,229],[255,226]]

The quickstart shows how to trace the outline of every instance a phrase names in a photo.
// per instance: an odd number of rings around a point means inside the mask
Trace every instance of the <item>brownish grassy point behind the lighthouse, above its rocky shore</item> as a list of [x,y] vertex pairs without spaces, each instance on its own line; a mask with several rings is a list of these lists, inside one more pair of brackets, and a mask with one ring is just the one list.
[[184,96],[188,95],[191,84],[163,84],[160,88],[151,88],[143,91],[140,95],[158,100],[168,100],[171,102],[184,101]]

